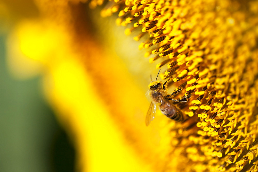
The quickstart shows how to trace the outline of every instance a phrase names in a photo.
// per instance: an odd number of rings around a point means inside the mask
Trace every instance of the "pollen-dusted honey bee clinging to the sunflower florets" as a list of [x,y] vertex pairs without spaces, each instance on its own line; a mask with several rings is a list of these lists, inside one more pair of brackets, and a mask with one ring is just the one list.
[[[159,70],[160,71],[160,70]],[[158,73],[159,74],[159,73]],[[158,75],[157,75],[158,78]],[[146,125],[148,126],[150,122],[155,118],[157,106],[159,106],[159,110],[166,115],[168,118],[173,119],[175,121],[183,121],[184,117],[182,112],[172,104],[172,101],[175,102],[187,102],[189,97],[184,96],[181,99],[173,99],[173,97],[182,91],[182,88],[174,91],[172,94],[167,93],[166,84],[168,80],[164,83],[161,81],[153,81],[149,84],[149,91],[151,97],[151,104],[147,112],[146,116]]]

